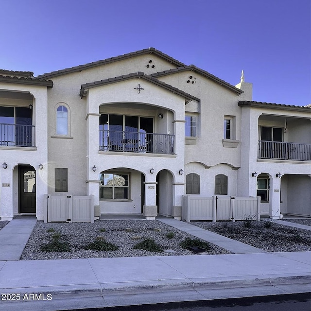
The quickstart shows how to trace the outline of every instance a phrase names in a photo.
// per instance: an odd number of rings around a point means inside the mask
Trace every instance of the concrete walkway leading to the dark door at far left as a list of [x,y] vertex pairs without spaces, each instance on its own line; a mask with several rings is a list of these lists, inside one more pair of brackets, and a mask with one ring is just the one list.
[[35,216],[17,216],[0,230],[0,260],[18,260],[36,223]]

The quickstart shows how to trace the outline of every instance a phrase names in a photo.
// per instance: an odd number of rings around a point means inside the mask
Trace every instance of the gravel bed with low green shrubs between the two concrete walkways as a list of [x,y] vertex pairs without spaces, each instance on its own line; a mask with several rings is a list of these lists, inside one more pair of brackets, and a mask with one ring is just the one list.
[[[48,232],[50,228],[53,228],[54,231]],[[132,228],[132,231],[125,231],[125,229],[128,228]],[[159,230],[155,230],[155,228]],[[70,252],[42,252],[40,250],[42,245],[51,242],[52,234],[55,232],[59,232],[62,235],[62,241],[69,242],[71,248]],[[166,237],[169,232],[173,232],[172,239]],[[153,238],[164,250],[173,250],[173,252],[159,253],[133,249],[133,246],[141,241],[140,239],[137,239],[138,236],[141,237],[141,239],[145,237]],[[93,251],[83,248],[86,244],[94,242],[96,237],[104,237],[107,242],[118,245],[119,250]],[[189,250],[183,249],[179,246],[179,243],[186,238],[193,238],[193,236],[157,220],[99,220],[94,224],[43,223],[42,221],[39,221],[36,223],[20,259],[79,259],[195,255]],[[210,243],[208,254],[218,255],[231,253]]]

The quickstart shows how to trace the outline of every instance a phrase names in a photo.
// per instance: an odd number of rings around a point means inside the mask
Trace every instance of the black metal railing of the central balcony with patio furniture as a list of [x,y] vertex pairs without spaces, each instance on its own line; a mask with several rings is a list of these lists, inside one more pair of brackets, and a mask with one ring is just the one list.
[[100,151],[174,153],[174,135],[100,130]]

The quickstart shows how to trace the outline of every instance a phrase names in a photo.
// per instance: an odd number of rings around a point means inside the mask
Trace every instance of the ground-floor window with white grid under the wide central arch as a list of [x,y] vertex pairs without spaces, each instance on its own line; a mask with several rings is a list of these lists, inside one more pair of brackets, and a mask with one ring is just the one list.
[[100,175],[99,197],[101,200],[129,200],[130,174],[103,172]]

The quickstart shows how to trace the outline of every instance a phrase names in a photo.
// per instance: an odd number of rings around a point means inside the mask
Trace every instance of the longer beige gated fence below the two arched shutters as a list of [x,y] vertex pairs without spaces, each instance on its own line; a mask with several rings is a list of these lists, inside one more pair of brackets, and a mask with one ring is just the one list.
[[243,220],[260,219],[260,197],[239,198],[234,196],[203,197],[184,195],[182,201],[182,219],[192,220]]

